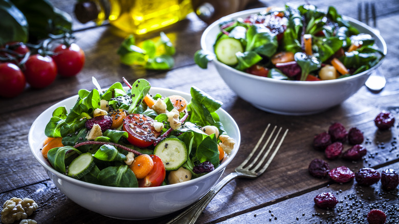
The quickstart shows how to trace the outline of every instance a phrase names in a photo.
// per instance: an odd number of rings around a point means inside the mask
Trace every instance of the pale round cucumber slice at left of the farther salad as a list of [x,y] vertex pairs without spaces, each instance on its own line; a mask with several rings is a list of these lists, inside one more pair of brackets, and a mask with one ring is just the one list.
[[223,38],[215,44],[215,54],[219,61],[227,64],[234,65],[238,62],[235,53],[243,52],[241,42],[235,38]]

